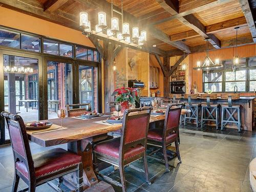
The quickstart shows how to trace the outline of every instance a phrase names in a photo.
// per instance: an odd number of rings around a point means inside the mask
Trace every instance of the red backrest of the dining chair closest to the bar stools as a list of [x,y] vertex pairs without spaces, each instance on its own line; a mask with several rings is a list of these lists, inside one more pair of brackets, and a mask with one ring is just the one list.
[[[165,111],[164,127],[163,127],[163,142],[166,142],[166,137],[169,133],[175,132],[178,134],[180,124],[181,106],[184,103],[174,103],[167,106]],[[173,108],[173,106],[176,106]]]

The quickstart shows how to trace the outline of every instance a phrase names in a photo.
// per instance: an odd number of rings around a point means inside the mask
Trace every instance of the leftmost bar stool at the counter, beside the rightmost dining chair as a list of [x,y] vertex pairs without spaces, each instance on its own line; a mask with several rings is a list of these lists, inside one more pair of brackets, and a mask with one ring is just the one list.
[[186,125],[186,120],[187,119],[189,121],[196,120],[197,127],[198,127],[198,124],[199,124],[198,114],[199,114],[199,109],[200,109],[201,103],[191,103],[191,99],[197,99],[196,94],[184,94],[184,98],[188,99],[187,103],[185,103],[185,108],[189,109],[191,111],[189,116],[187,116],[187,115],[184,116],[184,125]]

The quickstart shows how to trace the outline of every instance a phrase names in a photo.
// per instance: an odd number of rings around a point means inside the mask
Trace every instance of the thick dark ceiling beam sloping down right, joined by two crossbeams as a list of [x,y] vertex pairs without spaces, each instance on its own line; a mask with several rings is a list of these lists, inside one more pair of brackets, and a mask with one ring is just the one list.
[[[172,5],[167,4],[167,0],[157,0],[160,6],[168,11],[170,14],[175,15],[179,14],[178,11],[175,11]],[[189,28],[195,30],[198,34],[203,36],[204,38],[209,38],[209,42],[217,49],[221,48],[220,40],[214,34],[207,34],[205,26],[198,20],[193,14],[185,15],[183,17],[178,18],[180,22]]]

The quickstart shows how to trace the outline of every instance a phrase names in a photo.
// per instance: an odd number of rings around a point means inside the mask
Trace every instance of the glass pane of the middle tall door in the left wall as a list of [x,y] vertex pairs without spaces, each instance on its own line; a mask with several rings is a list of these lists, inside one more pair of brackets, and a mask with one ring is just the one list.
[[58,118],[57,110],[65,109],[73,102],[72,65],[70,63],[48,61],[48,119]]

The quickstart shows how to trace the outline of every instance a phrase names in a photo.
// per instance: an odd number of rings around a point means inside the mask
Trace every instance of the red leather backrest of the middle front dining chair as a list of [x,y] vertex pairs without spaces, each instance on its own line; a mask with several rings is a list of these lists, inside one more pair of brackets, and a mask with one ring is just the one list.
[[[125,152],[131,147],[142,146],[146,150],[146,139],[152,106],[128,109],[124,111],[121,131],[121,142],[119,148],[119,162],[132,162],[133,159],[124,159]],[[137,112],[137,113],[133,113]],[[142,154],[144,155],[144,154]],[[136,158],[136,154],[134,154]]]

